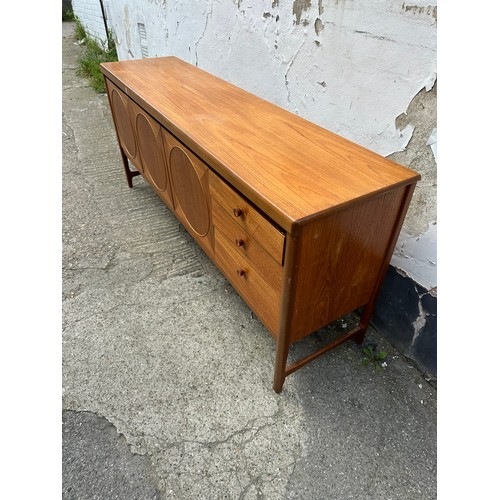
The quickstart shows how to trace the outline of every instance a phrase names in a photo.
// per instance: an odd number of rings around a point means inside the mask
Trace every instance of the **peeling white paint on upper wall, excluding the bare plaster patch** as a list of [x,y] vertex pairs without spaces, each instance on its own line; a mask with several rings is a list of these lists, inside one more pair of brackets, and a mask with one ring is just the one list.
[[[298,24],[296,4],[310,4]],[[118,34],[124,5],[130,25],[142,22],[134,16],[145,20],[151,55],[197,63],[384,156],[405,148],[410,130],[397,130],[394,120],[436,78],[435,19],[418,11],[435,2],[116,1]],[[138,37],[130,37],[140,54]]]

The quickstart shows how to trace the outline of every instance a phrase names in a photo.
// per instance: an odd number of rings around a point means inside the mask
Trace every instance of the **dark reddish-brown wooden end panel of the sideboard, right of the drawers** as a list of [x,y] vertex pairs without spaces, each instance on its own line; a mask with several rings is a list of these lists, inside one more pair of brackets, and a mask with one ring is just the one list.
[[301,228],[291,342],[370,301],[404,193],[389,191]]

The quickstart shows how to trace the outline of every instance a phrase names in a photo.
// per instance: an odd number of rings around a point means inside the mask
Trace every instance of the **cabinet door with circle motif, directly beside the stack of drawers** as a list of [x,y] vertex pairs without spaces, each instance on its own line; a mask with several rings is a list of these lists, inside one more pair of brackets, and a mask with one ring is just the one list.
[[187,231],[213,258],[208,167],[162,128],[174,211]]

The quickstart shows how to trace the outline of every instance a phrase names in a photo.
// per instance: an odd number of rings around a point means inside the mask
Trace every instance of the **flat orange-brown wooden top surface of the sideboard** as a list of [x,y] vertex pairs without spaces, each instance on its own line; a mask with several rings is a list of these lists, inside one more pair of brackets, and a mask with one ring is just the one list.
[[103,73],[288,231],[420,175],[175,57]]

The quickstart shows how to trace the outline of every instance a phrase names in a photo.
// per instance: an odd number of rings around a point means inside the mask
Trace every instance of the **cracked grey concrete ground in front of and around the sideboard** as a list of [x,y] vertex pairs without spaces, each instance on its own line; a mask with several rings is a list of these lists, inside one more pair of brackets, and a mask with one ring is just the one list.
[[436,498],[435,384],[370,330],[385,369],[347,343],[275,394],[271,335],[128,188],[81,50],[63,24],[63,498]]

